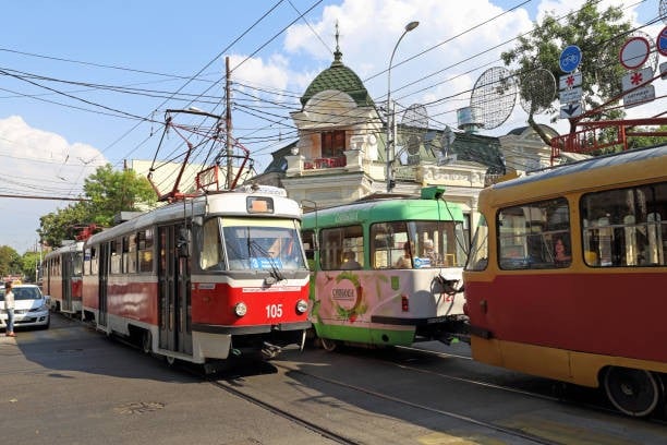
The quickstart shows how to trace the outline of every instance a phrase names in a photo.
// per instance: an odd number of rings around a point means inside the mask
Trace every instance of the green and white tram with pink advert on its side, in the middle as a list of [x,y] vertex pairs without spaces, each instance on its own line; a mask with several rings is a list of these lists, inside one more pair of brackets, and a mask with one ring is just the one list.
[[450,339],[463,320],[465,217],[425,188],[306,213],[312,322],[325,349],[338,342],[409,346]]

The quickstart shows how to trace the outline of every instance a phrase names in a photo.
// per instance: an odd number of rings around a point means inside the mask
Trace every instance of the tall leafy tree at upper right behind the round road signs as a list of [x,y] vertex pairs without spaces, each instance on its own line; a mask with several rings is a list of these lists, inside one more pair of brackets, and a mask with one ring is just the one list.
[[[560,52],[569,45],[577,45],[582,52],[579,71],[583,79],[584,109],[597,108],[621,93],[624,70],[618,61],[618,53],[632,29],[630,22],[622,21],[623,13],[619,7],[609,7],[601,12],[597,10],[598,4],[598,1],[587,0],[581,9],[569,13],[562,21],[554,13],[546,14],[541,24],[535,24],[531,34],[520,36],[514,49],[502,52],[500,58],[508,67],[519,65],[520,83],[521,79],[530,77],[530,73],[538,69],[549,71],[558,80],[565,74],[559,67]],[[526,88],[520,86],[520,94],[530,101]],[[547,112],[558,111],[555,104],[547,104]],[[535,123],[532,111],[529,113],[529,124],[546,144],[550,144],[549,137]],[[619,119],[623,115],[622,110],[616,109],[604,111],[592,119]],[[570,131],[574,131],[572,120]]]

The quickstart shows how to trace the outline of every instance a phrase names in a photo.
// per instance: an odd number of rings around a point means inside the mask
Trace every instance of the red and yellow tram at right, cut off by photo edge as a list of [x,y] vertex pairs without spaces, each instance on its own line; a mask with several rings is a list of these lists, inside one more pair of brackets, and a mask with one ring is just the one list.
[[667,146],[557,167],[480,194],[464,269],[477,361],[664,404]]

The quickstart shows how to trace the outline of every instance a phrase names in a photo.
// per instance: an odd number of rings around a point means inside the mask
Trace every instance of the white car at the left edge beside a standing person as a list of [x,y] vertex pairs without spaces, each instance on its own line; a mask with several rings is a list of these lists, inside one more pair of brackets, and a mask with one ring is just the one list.
[[[14,292],[14,328],[40,327],[47,329],[51,323],[47,299],[35,285],[12,286]],[[0,288],[0,326],[7,328],[4,287]]]

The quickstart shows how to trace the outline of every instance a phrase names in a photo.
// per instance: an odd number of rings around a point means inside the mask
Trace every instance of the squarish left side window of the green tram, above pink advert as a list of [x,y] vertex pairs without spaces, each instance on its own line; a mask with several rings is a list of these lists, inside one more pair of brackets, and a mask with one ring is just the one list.
[[319,262],[323,270],[355,269],[364,266],[362,226],[323,229]]

